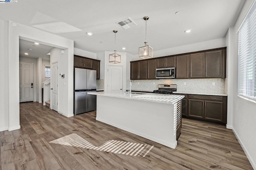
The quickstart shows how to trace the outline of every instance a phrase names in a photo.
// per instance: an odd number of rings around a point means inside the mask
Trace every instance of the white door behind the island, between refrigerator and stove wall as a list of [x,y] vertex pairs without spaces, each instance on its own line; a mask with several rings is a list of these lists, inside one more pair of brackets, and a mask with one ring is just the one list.
[[108,66],[108,92],[120,92],[123,88],[123,66]]

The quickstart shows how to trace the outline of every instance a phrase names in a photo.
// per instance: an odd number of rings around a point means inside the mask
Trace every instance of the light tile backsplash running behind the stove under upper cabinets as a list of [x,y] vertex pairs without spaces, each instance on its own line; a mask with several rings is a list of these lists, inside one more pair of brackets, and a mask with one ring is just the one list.
[[[126,82],[128,90],[130,80]],[[222,78],[132,80],[132,90],[152,92],[158,89],[158,84],[177,84],[178,92],[226,94],[226,82]]]

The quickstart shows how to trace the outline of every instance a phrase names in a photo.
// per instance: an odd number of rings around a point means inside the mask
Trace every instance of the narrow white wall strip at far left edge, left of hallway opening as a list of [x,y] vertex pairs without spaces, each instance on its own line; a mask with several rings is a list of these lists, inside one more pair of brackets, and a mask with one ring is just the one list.
[[[8,22],[0,20],[0,131],[9,127]],[[4,73],[4,74],[3,74]]]

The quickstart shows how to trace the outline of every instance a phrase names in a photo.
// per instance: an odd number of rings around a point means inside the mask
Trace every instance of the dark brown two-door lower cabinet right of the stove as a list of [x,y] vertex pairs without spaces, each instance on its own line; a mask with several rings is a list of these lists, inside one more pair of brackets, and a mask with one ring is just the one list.
[[227,96],[188,95],[187,117],[227,123]]

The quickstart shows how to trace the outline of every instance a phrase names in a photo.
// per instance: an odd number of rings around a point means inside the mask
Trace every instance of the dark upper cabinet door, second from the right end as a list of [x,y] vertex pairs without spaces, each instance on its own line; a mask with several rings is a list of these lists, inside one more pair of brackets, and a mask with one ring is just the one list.
[[190,78],[204,78],[204,53],[190,54]]

